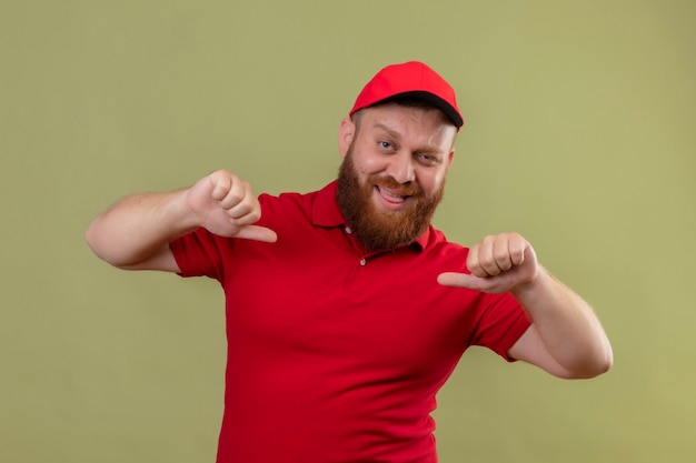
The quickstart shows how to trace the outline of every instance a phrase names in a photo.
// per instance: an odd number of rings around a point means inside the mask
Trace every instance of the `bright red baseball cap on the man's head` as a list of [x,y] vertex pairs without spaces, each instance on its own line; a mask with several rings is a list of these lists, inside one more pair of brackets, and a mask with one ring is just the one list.
[[396,97],[415,97],[439,108],[457,127],[464,118],[457,108],[455,90],[445,79],[419,61],[391,64],[377,72],[358,95],[349,115]]

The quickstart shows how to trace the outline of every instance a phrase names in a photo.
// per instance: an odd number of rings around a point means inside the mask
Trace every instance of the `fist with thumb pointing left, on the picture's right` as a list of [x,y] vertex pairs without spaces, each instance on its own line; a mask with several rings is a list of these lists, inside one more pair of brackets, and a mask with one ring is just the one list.
[[437,281],[445,286],[504,293],[528,285],[539,273],[534,249],[519,233],[484,238],[470,248],[467,268],[471,274],[445,272]]

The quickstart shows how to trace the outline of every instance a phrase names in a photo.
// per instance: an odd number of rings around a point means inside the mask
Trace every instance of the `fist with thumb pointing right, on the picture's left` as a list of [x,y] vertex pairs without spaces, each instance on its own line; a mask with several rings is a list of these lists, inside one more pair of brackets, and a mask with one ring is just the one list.
[[199,227],[221,236],[275,242],[272,230],[253,225],[261,218],[261,205],[248,182],[219,170],[186,190],[188,209]]

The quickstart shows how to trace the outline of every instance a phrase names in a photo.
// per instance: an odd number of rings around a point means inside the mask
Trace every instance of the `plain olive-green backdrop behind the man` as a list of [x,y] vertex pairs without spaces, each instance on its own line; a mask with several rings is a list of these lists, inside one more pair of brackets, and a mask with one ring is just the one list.
[[523,233],[615,350],[576,382],[469,351],[441,462],[693,462],[695,20],[689,0],[0,0],[0,461],[212,462],[218,284],[111,269],[89,221],[220,168],[320,188],[362,84],[419,59],[467,120],[436,224]]

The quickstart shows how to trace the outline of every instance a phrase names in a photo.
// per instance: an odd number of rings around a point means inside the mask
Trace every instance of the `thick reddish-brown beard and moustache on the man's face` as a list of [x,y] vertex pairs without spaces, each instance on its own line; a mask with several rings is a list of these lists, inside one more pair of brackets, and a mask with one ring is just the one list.
[[[372,199],[377,187],[410,197],[410,204],[399,211],[377,208]],[[352,162],[351,145],[339,168],[336,199],[356,240],[366,251],[380,252],[408,245],[420,238],[430,225],[444,191],[443,183],[437,191],[426,194],[418,184],[399,183],[392,177],[370,175],[361,183]]]

